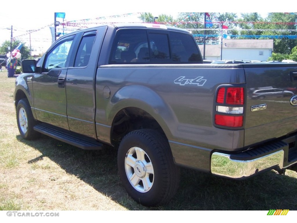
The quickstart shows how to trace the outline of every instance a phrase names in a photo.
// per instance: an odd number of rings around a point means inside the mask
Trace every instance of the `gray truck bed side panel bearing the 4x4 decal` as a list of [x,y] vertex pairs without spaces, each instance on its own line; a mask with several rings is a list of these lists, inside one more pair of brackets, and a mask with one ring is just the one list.
[[[188,81],[175,83],[181,77]],[[197,77],[206,80],[203,86],[191,82]],[[243,147],[244,131],[213,126],[214,93],[218,84],[244,83],[244,70],[240,67],[101,66],[96,78],[96,123],[111,126],[113,118],[121,109],[136,107],[154,117],[171,141],[212,149],[237,150]],[[110,89],[108,99],[103,97],[105,86]]]

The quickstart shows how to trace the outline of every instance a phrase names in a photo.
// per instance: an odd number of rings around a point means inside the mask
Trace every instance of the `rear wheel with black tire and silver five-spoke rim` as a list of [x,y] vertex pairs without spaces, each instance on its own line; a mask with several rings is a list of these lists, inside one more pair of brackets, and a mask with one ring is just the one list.
[[119,146],[118,169],[128,194],[142,205],[166,203],[176,194],[180,171],[168,140],[156,131],[128,133]]

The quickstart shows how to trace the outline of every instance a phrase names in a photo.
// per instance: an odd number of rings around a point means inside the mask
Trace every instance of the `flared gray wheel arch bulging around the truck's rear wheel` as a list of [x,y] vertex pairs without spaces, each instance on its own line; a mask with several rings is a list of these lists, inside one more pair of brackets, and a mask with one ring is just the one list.
[[119,89],[106,107],[108,124],[112,125],[116,114],[127,107],[136,107],[149,113],[159,123],[168,139],[172,137],[170,129],[176,126],[177,118],[168,104],[152,89],[140,85]]

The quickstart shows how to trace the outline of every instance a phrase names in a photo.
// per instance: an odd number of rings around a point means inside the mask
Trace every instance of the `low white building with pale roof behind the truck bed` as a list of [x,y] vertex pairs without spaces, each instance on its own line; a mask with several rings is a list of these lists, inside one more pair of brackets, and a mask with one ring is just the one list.
[[[273,51],[273,40],[223,39],[222,42],[222,45],[205,46],[206,60],[244,59],[266,61]],[[203,45],[198,46],[203,56]]]

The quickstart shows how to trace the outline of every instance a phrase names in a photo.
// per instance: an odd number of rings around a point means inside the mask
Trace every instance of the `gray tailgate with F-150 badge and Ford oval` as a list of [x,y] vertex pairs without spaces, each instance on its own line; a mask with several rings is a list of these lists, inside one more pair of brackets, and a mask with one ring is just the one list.
[[247,83],[244,146],[296,131],[297,64],[253,64],[244,68]]

